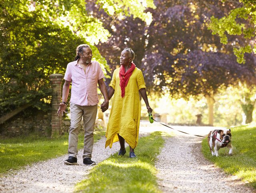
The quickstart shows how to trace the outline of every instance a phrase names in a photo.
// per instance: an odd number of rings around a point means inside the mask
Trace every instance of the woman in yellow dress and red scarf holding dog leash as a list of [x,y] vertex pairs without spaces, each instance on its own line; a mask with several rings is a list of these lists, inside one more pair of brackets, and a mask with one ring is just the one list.
[[[126,153],[124,141],[130,145],[130,156],[136,157],[134,148],[138,144],[140,126],[140,96],[144,99],[148,112],[152,112],[148,104],[146,85],[140,69],[132,62],[134,52],[125,48],[120,56],[120,68],[114,70],[108,90],[108,99],[114,94],[110,117],[106,131],[105,147],[112,147],[116,141],[120,143],[118,155]],[[106,111],[107,107],[101,107]]]

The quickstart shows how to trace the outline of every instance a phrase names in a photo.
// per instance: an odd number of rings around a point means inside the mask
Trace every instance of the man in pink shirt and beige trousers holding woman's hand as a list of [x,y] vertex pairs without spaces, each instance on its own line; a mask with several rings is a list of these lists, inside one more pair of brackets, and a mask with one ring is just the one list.
[[70,83],[72,82],[70,97],[70,129],[68,137],[68,159],[66,165],[76,165],[78,132],[80,122],[84,120],[84,165],[95,165],[91,160],[93,147],[93,132],[98,110],[97,83],[105,101],[104,108],[108,108],[108,93],[104,84],[104,74],[100,65],[92,60],[92,49],[87,44],[81,44],[76,48],[76,58],[67,66],[64,76],[65,83],[62,88],[62,102],[58,109],[58,115],[66,112]]

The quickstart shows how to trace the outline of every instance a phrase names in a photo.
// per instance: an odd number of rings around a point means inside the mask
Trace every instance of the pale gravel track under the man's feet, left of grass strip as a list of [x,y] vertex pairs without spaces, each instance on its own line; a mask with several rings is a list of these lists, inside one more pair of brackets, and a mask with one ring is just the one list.
[[[119,150],[119,145],[105,149],[103,137],[94,143],[92,160],[96,163]],[[93,166],[83,165],[82,150],[78,152],[79,165],[64,165],[68,155],[35,163],[16,173],[0,178],[0,192],[72,192],[74,185],[85,178]]]

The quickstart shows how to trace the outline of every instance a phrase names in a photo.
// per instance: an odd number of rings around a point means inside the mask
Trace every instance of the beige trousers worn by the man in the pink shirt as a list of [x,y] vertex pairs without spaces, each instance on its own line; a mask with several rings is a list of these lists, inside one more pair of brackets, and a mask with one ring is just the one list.
[[76,157],[78,133],[80,123],[83,117],[84,120],[84,153],[83,159],[86,157],[92,158],[93,147],[93,132],[97,115],[98,105],[81,106],[75,103],[70,103],[70,128],[68,137],[68,156]]

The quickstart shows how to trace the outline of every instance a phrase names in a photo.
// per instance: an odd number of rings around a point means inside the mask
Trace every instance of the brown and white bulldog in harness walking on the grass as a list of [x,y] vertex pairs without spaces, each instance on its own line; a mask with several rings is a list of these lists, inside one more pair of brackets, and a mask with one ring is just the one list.
[[[208,143],[212,156],[218,156],[220,147],[228,147],[229,155],[232,155],[233,147],[231,144],[231,130],[213,130],[208,134]],[[214,151],[213,151],[214,150]]]

